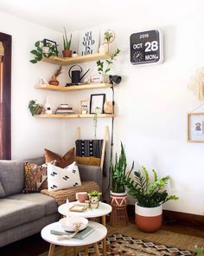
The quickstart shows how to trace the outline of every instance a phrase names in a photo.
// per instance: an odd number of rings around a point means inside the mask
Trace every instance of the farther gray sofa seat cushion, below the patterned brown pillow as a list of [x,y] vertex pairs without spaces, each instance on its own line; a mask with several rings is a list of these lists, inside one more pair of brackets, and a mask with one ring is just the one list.
[[8,199],[12,200],[25,200],[29,202],[35,202],[37,204],[45,207],[45,214],[50,215],[53,213],[57,213],[57,203],[54,198],[44,195],[41,193],[32,193],[32,194],[14,194],[10,195]]

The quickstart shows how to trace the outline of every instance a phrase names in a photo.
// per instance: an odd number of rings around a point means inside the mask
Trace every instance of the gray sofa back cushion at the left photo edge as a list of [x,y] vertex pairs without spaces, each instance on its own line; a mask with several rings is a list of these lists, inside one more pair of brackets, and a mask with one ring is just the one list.
[[24,186],[23,161],[1,160],[0,181],[6,196],[21,193]]

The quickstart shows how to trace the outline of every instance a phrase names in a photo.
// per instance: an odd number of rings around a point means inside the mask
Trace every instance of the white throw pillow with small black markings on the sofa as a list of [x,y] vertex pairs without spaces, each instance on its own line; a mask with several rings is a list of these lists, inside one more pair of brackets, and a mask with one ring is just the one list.
[[61,168],[48,164],[48,191],[81,186],[80,172],[76,162]]

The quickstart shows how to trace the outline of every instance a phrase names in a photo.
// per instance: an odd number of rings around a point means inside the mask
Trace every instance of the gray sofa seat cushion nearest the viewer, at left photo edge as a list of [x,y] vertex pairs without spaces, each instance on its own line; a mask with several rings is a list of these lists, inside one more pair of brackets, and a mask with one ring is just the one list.
[[26,200],[0,200],[0,232],[45,216],[45,207]]

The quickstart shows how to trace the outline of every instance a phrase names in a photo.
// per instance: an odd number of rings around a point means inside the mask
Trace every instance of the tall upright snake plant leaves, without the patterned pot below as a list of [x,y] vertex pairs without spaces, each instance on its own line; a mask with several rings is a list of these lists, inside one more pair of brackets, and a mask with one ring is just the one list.
[[111,163],[111,176],[112,176],[112,192],[113,193],[124,193],[125,187],[131,182],[131,172],[134,168],[134,161],[131,165],[131,170],[126,171],[127,161],[124,152],[124,145],[121,142],[121,151],[118,158],[116,153],[115,164]]

